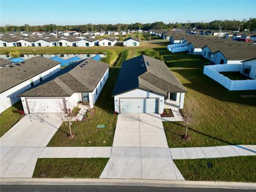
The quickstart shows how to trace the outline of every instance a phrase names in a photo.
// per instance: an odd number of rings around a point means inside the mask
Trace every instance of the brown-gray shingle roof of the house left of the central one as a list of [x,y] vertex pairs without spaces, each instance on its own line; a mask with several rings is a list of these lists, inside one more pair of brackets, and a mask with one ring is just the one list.
[[106,63],[88,58],[68,73],[42,82],[19,97],[69,97],[75,92],[92,92],[107,69]]

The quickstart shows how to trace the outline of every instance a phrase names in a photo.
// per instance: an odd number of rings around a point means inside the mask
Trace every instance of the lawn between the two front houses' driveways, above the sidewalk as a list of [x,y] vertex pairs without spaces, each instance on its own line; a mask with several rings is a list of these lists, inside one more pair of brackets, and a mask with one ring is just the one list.
[[[111,98],[119,68],[109,68],[109,78],[94,105],[95,115],[87,121],[72,123],[74,139],[67,139],[68,127],[60,126],[48,147],[66,146],[112,146],[117,116],[114,115],[114,98]],[[97,128],[105,124],[106,128]],[[105,141],[105,142],[104,142]]]

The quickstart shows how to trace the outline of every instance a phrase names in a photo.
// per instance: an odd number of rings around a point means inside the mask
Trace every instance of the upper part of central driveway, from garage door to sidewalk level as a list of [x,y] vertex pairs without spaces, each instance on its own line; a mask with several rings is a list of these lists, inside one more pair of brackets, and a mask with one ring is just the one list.
[[159,114],[119,114],[113,147],[168,147]]

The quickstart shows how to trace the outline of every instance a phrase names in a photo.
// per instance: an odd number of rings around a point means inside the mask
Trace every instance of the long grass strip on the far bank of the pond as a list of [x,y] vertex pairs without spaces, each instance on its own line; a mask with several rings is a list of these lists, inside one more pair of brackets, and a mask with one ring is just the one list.
[[20,54],[65,54],[65,53],[104,53],[108,50],[114,50],[121,53],[125,50],[143,50],[145,48],[163,48],[167,46],[167,42],[156,43],[140,43],[139,47],[124,47],[124,46],[93,46],[93,47],[1,47],[0,54],[7,54],[10,51],[17,50]]

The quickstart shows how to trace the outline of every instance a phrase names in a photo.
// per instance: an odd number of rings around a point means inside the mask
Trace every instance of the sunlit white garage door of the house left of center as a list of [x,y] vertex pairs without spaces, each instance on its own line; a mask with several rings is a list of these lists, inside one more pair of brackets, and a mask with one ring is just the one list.
[[30,113],[59,113],[64,109],[65,98],[27,99]]

